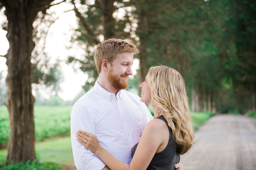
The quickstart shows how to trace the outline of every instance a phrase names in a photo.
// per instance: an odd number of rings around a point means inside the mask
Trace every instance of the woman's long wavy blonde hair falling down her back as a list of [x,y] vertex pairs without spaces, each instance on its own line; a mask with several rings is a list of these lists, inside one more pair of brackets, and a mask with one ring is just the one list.
[[195,144],[185,82],[175,69],[155,66],[148,71],[148,85],[151,106],[161,110],[178,144],[177,154],[183,155]]

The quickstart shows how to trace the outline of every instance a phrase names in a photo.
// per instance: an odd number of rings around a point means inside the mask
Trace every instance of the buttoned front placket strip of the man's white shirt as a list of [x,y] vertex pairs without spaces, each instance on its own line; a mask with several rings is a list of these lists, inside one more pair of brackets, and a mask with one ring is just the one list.
[[122,120],[122,123],[123,123],[123,126],[124,126],[124,131],[125,131],[126,137],[128,139],[129,145],[130,145],[130,147],[133,147],[134,146],[134,142],[133,142],[133,139],[132,139],[132,134],[130,132],[130,128],[128,126],[126,116],[124,114],[124,110],[121,107],[121,104],[120,104],[119,100],[117,99],[118,111],[119,111],[119,114],[120,114],[120,117],[121,117],[121,120]]

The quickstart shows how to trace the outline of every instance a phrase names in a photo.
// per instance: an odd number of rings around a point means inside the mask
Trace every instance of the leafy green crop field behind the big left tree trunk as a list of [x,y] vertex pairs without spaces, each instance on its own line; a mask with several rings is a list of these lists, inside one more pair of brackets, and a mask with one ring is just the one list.
[[[37,141],[70,132],[72,106],[35,106],[35,137]],[[0,106],[0,145],[8,143],[10,133],[9,114],[6,106]]]

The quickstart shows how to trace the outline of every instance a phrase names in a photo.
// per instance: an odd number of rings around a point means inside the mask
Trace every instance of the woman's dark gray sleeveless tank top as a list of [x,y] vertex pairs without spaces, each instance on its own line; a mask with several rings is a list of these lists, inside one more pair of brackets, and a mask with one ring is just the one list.
[[[163,120],[167,124],[164,116],[161,115],[156,118]],[[153,159],[148,165],[147,170],[174,170],[174,165],[180,162],[180,155],[176,153],[177,142],[172,137],[172,129],[169,126],[168,128],[170,132],[169,142],[162,152],[155,153]],[[132,157],[136,151],[138,144],[139,143],[134,145],[132,148]]]

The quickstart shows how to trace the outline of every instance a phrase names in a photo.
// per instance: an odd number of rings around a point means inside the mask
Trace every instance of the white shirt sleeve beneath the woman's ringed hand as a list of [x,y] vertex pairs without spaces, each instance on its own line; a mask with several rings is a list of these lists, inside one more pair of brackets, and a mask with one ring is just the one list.
[[76,140],[76,131],[79,129],[95,135],[92,112],[86,103],[77,101],[70,116],[71,144],[76,168],[78,170],[102,170],[105,164],[94,153],[86,149]]

